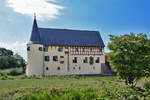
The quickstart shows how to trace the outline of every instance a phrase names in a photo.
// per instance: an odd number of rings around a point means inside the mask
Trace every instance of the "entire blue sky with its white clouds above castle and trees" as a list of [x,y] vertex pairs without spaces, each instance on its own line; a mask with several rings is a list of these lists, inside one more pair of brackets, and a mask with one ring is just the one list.
[[34,12],[39,27],[98,30],[106,46],[109,34],[150,37],[150,0],[0,0],[0,47],[26,58]]

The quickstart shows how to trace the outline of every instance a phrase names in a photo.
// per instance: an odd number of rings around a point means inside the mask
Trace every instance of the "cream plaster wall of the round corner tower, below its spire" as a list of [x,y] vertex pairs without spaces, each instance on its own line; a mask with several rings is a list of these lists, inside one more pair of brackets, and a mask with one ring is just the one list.
[[27,44],[30,51],[27,51],[27,69],[26,75],[43,75],[43,51],[39,51],[40,44]]

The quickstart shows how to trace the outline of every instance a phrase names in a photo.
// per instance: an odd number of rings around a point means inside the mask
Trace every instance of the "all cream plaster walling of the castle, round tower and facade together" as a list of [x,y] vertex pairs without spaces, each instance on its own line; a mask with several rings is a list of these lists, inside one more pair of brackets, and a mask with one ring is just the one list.
[[[30,51],[27,51],[27,70],[26,74],[28,76],[32,75],[72,75],[72,74],[102,74],[101,64],[105,63],[104,49],[103,55],[71,55],[69,47],[63,51],[58,51],[58,46],[48,46],[48,52],[39,51],[39,47],[43,48],[40,44],[27,44],[30,47]],[[65,51],[69,51],[65,53]],[[49,56],[50,61],[45,61],[45,56]],[[53,61],[53,56],[58,56],[58,61]],[[64,56],[64,58],[60,58]],[[94,57],[94,63],[91,65],[89,63],[89,57]],[[69,57],[69,70],[68,70],[68,57]],[[77,63],[73,63],[74,57],[77,57]],[[88,63],[83,63],[85,57],[88,57]],[[99,63],[95,63],[96,58],[100,58]],[[60,61],[64,61],[63,64]],[[48,67],[48,70],[46,68]],[[60,67],[60,70],[58,70]],[[79,69],[80,67],[80,69]],[[93,68],[95,67],[95,69]],[[75,68],[75,69],[74,69]]]

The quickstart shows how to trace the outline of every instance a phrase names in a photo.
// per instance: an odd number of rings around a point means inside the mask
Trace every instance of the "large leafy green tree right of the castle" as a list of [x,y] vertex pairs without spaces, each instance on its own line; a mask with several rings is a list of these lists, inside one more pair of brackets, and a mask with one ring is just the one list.
[[146,34],[110,35],[109,61],[127,85],[150,75],[150,39]]

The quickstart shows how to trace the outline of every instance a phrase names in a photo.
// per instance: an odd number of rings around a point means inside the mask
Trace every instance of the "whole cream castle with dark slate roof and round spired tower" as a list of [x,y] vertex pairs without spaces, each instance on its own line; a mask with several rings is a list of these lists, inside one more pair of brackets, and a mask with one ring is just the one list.
[[40,28],[34,18],[26,75],[101,75],[104,43],[98,31]]

